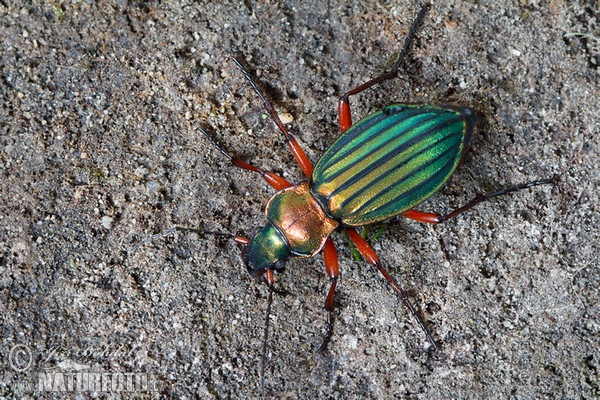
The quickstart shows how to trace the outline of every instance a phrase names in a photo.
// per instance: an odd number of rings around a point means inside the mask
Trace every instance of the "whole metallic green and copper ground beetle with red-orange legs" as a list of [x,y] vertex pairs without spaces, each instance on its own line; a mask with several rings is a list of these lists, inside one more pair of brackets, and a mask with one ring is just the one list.
[[258,172],[277,193],[266,205],[267,223],[252,239],[182,227],[167,232],[183,230],[225,236],[242,245],[242,257],[248,272],[252,277],[263,277],[270,288],[263,354],[272,302],[273,271],[282,271],[289,257],[312,257],[321,250],[331,281],[325,301],[327,333],[320,351],[326,349],[333,332],[334,292],[339,276],[337,251],[330,236],[339,229],[347,231],[365,260],[391,284],[435,348],[433,337],[404,290],[383,268],[373,248],[354,227],[397,215],[436,224],[486,199],[552,182],[552,179],[538,180],[478,195],[465,206],[445,215],[417,211],[415,206],[446,184],[467,151],[473,137],[474,112],[455,105],[397,103],[352,124],[350,96],[399,76],[409,43],[427,8],[422,6],[417,14],[392,71],[341,96],[338,104],[341,136],[325,151],[314,168],[247,70],[233,59],[262,99],[308,181],[292,185],[273,172],[248,164],[231,155],[200,128],[232,164]]

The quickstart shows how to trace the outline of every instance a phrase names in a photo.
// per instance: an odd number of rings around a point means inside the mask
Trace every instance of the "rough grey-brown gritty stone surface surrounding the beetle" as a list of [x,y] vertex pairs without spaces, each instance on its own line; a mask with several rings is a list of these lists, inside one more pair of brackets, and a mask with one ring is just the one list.
[[[199,126],[302,179],[227,57],[291,113],[316,161],[336,136],[337,98],[389,68],[419,5],[219,3],[0,3],[0,397],[65,396],[35,391],[44,371],[148,373],[158,391],[144,397],[259,396],[267,290],[237,246],[174,234],[128,251],[173,225],[251,235],[263,222],[273,191]],[[440,226],[394,219],[373,242],[438,351],[338,235],[338,318],[320,357],[322,258],[290,262],[277,276],[288,294],[273,305],[266,397],[600,396],[599,8],[435,4],[402,79],[353,98],[355,117],[393,101],[481,114],[459,172],[422,209],[560,180]],[[16,344],[32,354],[23,372]]]

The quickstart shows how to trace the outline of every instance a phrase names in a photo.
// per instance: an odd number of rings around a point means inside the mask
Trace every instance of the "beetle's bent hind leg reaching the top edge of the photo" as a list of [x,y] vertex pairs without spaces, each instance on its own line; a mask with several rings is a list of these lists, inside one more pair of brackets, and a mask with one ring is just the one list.
[[350,128],[352,126],[352,115],[350,113],[350,96],[358,94],[364,90],[367,90],[371,86],[376,85],[380,82],[387,81],[389,79],[394,79],[399,76],[400,66],[402,65],[402,62],[404,61],[404,56],[406,55],[406,51],[408,50],[410,41],[412,40],[412,38],[415,34],[415,31],[416,31],[417,27],[419,26],[419,24],[421,23],[421,20],[423,19],[423,15],[425,15],[425,12],[427,11],[428,7],[429,7],[428,4],[424,4],[423,6],[421,6],[421,9],[419,10],[419,13],[415,17],[415,20],[410,28],[410,31],[408,32],[408,35],[406,36],[406,39],[404,40],[404,46],[402,46],[402,50],[400,51],[400,55],[398,56],[398,59],[396,60],[396,63],[394,64],[394,68],[390,72],[380,75],[377,78],[371,79],[370,81],[363,83],[362,85],[344,93],[342,95],[342,97],[340,97],[340,100],[338,102],[338,121],[339,121],[339,125],[340,125],[340,132],[344,133],[344,132],[346,132],[346,130],[348,130],[348,128]]

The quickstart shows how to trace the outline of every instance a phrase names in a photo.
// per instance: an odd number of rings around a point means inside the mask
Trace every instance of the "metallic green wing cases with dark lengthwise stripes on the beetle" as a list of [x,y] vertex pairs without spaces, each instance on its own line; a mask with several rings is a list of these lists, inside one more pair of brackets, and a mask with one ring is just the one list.
[[444,186],[473,126],[469,108],[389,105],[352,125],[325,151],[312,173],[311,194],[347,226],[396,216]]

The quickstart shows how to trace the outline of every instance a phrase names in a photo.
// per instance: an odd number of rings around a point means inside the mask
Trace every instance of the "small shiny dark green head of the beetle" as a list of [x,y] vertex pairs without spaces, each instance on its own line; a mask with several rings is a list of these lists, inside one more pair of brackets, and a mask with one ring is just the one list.
[[289,256],[287,241],[271,223],[258,231],[242,252],[248,273],[253,278],[263,275],[267,269],[281,272]]

